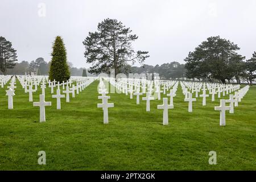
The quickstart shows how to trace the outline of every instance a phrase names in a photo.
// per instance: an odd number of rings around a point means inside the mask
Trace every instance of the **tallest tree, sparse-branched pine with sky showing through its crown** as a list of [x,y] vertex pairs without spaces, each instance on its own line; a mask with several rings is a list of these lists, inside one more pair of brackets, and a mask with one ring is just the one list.
[[122,22],[116,19],[104,19],[98,24],[98,31],[89,32],[84,42],[85,58],[87,63],[92,63],[89,73],[109,73],[110,68],[115,69],[115,74],[129,68],[129,63],[136,61],[143,64],[149,57],[146,51],[137,51],[131,47],[131,43],[138,36],[131,34],[130,28],[126,28]]

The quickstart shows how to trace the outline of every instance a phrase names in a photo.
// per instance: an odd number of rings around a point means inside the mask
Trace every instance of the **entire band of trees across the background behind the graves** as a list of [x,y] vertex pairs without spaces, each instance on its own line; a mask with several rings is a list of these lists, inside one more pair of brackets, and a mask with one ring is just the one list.
[[[155,65],[155,67],[144,64],[149,57],[147,51],[135,51],[133,48],[132,43],[137,39],[138,36],[132,34],[130,28],[116,19],[108,18],[98,23],[97,30],[89,32],[82,42],[85,48],[86,63],[91,65],[88,72],[95,75],[102,72],[110,73],[110,68],[113,68],[115,75],[118,73],[159,73],[163,79],[184,79],[186,77],[222,83],[235,79],[238,84],[241,80],[253,84],[256,78],[256,52],[250,59],[245,60],[245,57],[238,53],[240,47],[237,44],[222,39],[220,36],[208,38],[196,47],[195,51],[189,52],[184,59],[185,64],[174,61]],[[68,64],[66,49],[60,36],[56,37],[52,48],[52,60],[49,63],[46,63],[42,57],[31,63],[27,61],[16,63],[16,50],[12,48],[9,41],[0,37],[0,71],[5,75],[24,72],[47,75],[50,72],[49,76],[56,77],[57,80],[59,78],[67,80],[70,73],[73,76],[89,76],[87,72],[82,73],[82,68],[73,68],[71,63]],[[135,67],[135,63],[141,64],[141,67]]]

